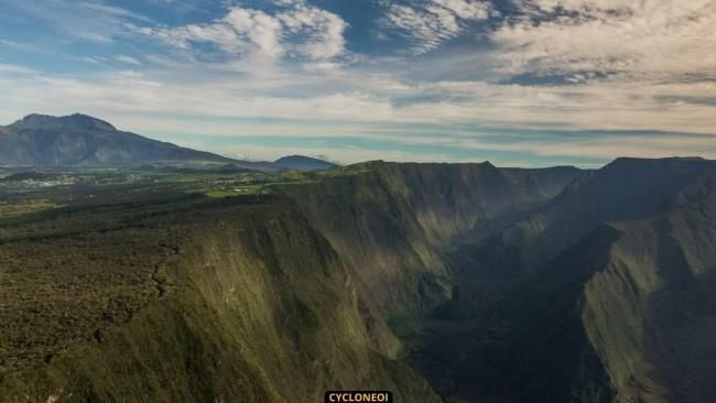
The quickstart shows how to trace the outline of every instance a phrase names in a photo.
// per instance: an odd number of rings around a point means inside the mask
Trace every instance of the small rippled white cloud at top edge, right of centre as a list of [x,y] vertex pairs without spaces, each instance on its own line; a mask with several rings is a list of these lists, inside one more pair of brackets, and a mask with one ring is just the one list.
[[487,20],[490,3],[481,0],[420,0],[411,6],[389,3],[387,21],[414,40],[414,54],[427,53],[457,36],[464,24]]

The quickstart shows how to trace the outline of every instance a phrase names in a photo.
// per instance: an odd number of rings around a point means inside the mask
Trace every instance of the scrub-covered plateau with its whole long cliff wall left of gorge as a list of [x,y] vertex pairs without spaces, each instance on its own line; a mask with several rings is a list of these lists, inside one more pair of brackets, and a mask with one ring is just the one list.
[[328,389],[438,401],[395,360],[388,318],[449,298],[454,237],[524,214],[579,172],[358,171],[270,199],[170,197],[7,225],[0,401],[314,402]]

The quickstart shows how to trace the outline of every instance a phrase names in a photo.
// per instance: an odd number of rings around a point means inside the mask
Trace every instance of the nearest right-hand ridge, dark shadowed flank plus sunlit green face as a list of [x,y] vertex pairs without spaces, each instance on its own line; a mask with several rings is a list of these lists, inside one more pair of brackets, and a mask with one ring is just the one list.
[[[549,396],[554,389],[541,385],[589,374],[567,383],[588,401],[605,401],[612,389],[619,402],[713,402],[714,218],[710,170],[662,211],[590,231],[509,294],[506,317],[519,324],[507,348],[513,384],[528,385],[524,395]],[[581,352],[569,358],[567,346]],[[581,363],[587,357],[589,370]],[[535,371],[533,362],[545,360],[553,370]]]

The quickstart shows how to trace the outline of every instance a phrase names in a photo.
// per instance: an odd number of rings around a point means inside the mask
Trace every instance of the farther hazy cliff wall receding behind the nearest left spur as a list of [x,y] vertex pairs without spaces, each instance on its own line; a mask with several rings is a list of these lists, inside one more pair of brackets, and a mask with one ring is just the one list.
[[485,164],[371,163],[366,172],[286,187],[383,314],[449,298],[446,247],[470,243],[546,204],[583,172]]

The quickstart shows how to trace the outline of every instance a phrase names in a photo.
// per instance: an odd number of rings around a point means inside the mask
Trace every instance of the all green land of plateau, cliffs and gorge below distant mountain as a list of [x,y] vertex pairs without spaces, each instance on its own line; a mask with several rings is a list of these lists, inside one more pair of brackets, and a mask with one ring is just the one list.
[[0,401],[716,399],[712,162],[51,173],[0,184]]

